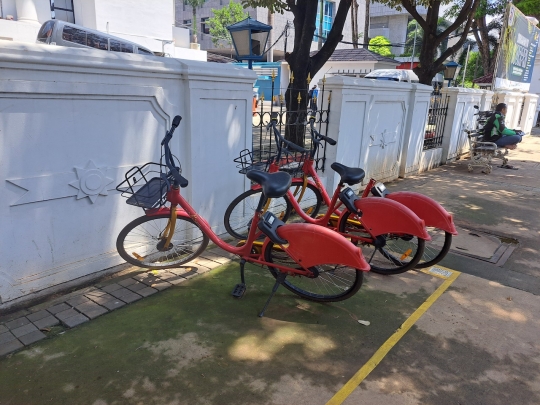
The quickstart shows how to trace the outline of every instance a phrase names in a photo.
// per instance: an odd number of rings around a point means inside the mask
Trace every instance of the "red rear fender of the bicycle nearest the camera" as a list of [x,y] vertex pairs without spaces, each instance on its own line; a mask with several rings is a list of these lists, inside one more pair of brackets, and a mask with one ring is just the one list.
[[[277,234],[289,242],[287,252],[304,268],[328,263],[364,271],[370,269],[362,250],[328,228],[313,224],[286,224],[278,228]],[[266,238],[263,251],[268,243],[270,240]]]

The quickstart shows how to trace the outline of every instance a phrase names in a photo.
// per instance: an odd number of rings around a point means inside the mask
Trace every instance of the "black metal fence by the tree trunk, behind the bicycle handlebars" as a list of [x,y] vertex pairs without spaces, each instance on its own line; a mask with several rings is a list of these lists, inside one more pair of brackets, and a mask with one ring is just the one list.
[[[328,135],[328,117],[330,114],[330,103],[332,92],[325,89],[326,80],[322,80],[322,86],[319,88],[318,95],[311,100],[307,100],[308,109],[315,111],[315,128],[322,135]],[[268,92],[268,90],[266,90]],[[272,114],[278,116],[278,129],[283,136],[289,132],[302,134],[302,145],[306,149],[310,149],[311,135],[310,126],[307,122],[308,111],[306,109],[298,109],[302,97],[309,97],[306,89],[295,90],[291,89],[291,97],[289,100],[289,108],[285,100],[285,92],[287,89],[280,89],[272,76],[272,88],[270,94],[265,94],[264,90],[259,97],[256,107],[253,108],[253,159],[263,160],[265,156],[271,156],[276,151],[276,144],[272,132],[266,130],[266,125],[270,122]],[[305,104],[304,104],[305,105]],[[332,135],[329,135],[332,137]],[[326,161],[326,142],[323,142],[322,147],[318,149],[315,156],[317,170],[325,169]]]

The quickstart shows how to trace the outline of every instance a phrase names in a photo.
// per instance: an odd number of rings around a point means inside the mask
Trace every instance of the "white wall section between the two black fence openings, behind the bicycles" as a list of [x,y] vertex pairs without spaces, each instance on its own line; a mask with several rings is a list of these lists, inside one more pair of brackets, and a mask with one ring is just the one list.
[[[431,86],[334,76],[325,89],[332,91],[328,135],[338,141],[326,151],[328,167],[361,167],[365,181],[418,172]],[[338,182],[335,174],[327,188]]]

